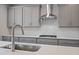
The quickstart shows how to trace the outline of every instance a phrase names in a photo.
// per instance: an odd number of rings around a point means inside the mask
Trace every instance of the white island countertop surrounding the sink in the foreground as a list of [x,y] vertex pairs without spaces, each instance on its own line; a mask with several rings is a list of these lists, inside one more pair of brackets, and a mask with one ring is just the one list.
[[[11,44],[11,42],[0,41],[0,47]],[[0,55],[79,55],[79,47],[31,44],[31,43],[18,43],[27,45],[39,45],[41,48],[36,52],[0,48]]]

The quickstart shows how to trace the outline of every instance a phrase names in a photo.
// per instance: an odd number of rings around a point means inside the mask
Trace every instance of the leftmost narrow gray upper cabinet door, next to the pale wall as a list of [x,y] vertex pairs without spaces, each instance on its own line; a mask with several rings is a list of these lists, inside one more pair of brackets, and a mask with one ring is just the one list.
[[14,8],[8,8],[8,27],[14,25]]

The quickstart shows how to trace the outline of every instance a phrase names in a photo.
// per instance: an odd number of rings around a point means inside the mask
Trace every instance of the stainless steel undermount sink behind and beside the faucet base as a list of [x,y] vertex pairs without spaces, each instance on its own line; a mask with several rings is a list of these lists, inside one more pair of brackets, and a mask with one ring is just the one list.
[[[11,49],[11,44],[6,45],[2,48],[6,48],[6,49]],[[40,49],[40,46],[36,46],[36,45],[23,45],[23,44],[15,44],[15,49],[16,50],[23,50],[23,51],[38,51]]]

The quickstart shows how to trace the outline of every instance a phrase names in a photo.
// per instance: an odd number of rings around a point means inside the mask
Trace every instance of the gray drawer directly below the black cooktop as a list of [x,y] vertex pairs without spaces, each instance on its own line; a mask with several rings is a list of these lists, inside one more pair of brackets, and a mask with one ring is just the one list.
[[37,39],[38,44],[57,45],[56,39]]

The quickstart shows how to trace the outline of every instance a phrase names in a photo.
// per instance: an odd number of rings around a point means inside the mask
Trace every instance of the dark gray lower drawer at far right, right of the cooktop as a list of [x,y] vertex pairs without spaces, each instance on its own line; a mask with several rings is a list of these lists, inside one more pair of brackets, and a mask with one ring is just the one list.
[[79,47],[79,40],[59,40],[59,45]]

